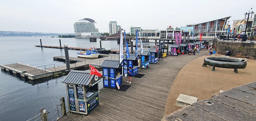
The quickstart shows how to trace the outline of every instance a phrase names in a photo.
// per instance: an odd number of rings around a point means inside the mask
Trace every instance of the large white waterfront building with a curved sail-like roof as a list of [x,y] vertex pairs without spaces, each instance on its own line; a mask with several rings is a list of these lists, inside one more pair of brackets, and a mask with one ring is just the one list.
[[81,19],[78,22],[74,23],[74,31],[76,38],[88,38],[88,37],[101,37],[99,33],[99,29],[95,28],[94,23],[96,23],[92,19]]

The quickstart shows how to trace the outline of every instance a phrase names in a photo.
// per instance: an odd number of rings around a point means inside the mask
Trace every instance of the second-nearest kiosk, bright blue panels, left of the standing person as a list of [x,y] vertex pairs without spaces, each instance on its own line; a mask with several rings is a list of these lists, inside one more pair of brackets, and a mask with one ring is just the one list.
[[[101,64],[103,69],[103,87],[117,89],[123,84],[123,68],[119,60],[104,60]],[[116,84],[117,83],[117,84]]]

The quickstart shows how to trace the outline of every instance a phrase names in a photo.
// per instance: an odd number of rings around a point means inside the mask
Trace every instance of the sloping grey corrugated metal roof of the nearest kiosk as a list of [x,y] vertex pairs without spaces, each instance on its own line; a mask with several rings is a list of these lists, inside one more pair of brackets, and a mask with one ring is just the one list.
[[68,73],[68,76],[62,81],[62,83],[89,85],[90,73],[89,73],[89,71],[71,70]]

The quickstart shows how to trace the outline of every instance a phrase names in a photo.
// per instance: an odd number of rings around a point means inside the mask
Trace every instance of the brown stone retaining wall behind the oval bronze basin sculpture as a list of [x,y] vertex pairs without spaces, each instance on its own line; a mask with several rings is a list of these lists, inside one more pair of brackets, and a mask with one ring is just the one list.
[[255,43],[215,40],[213,43],[213,48],[216,49],[217,54],[225,55],[226,51],[231,51],[230,56],[233,57],[256,59]]

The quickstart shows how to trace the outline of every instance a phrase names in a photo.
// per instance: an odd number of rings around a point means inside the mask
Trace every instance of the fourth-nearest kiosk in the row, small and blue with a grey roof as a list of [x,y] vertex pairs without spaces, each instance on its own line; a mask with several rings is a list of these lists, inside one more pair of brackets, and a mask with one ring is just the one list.
[[138,51],[138,55],[141,56],[140,58],[140,68],[142,69],[146,69],[147,67],[149,67],[149,55],[150,52],[149,51],[143,51],[141,53],[141,51]]

